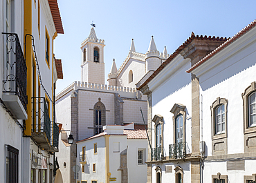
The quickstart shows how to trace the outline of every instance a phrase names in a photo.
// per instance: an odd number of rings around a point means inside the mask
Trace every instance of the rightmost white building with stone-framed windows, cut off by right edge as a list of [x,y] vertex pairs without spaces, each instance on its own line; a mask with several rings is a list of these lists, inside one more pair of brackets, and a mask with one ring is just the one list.
[[203,182],[255,182],[256,21],[188,70],[199,78]]

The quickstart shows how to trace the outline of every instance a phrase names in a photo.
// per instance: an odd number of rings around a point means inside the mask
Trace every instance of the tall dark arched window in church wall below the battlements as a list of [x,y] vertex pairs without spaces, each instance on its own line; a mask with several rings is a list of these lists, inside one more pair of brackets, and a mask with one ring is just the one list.
[[100,100],[99,98],[99,101],[93,107],[94,135],[102,133],[102,126],[106,125],[106,108]]

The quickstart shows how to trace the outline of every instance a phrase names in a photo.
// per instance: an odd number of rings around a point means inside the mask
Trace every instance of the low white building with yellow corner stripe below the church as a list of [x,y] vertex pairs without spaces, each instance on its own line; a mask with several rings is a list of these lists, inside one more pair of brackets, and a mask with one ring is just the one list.
[[147,182],[147,135],[134,124],[110,125],[77,142],[77,182]]

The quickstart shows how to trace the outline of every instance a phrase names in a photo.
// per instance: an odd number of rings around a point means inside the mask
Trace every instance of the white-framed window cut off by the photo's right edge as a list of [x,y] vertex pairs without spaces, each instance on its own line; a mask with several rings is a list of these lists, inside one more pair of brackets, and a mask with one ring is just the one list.
[[256,126],[256,92],[248,96],[248,127]]

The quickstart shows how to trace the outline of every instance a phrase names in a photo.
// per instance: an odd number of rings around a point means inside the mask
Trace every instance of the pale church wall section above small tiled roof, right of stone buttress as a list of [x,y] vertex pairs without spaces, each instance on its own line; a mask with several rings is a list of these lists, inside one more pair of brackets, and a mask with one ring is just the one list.
[[[144,100],[136,100],[136,99],[124,99],[122,98],[123,111],[124,111],[124,122],[131,123],[134,122],[136,124],[143,124],[143,117],[145,119],[145,123],[147,124],[147,101]],[[143,110],[143,117],[140,112]]]

